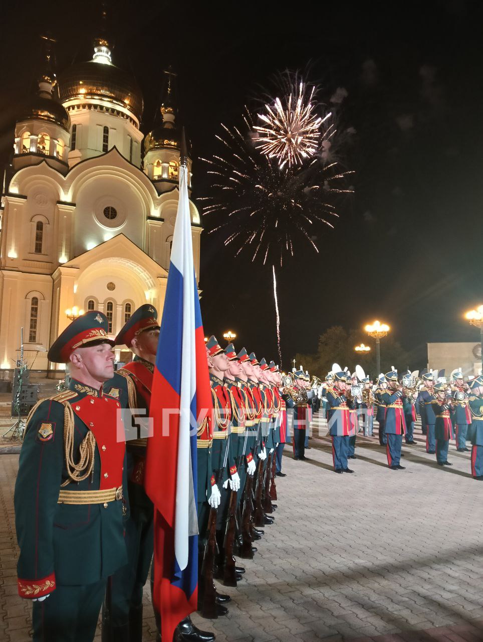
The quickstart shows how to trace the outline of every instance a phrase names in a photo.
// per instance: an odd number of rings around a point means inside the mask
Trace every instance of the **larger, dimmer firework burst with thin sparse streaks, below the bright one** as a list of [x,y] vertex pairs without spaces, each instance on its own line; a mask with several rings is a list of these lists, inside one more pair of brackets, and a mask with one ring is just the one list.
[[[326,137],[334,125],[328,123]],[[253,121],[248,111],[242,127],[222,125],[216,136],[219,151],[207,164],[208,196],[199,198],[203,213],[217,223],[210,230],[225,233],[225,245],[237,246],[235,255],[250,252],[252,261],[280,263],[294,256],[301,241],[318,252],[318,229],[334,227],[338,216],[331,201],[352,192],[336,162],[325,164],[321,155],[302,166],[280,169],[275,159],[258,152],[253,141]]]

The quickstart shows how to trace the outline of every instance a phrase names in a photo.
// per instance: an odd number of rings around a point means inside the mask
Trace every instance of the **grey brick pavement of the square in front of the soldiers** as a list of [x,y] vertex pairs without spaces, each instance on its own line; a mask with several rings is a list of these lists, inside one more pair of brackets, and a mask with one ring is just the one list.
[[[230,614],[194,614],[196,624],[218,642],[483,641],[483,485],[471,479],[470,453],[452,444],[454,465],[441,468],[418,433],[418,446],[403,448],[407,469],[390,471],[377,438],[358,438],[355,473],[336,475],[320,433],[307,462],[285,447],[275,524],[255,559],[243,560],[246,580],[223,588]],[[27,642],[30,609],[15,586],[17,462],[0,456],[0,640]],[[147,642],[148,587],[145,602]]]

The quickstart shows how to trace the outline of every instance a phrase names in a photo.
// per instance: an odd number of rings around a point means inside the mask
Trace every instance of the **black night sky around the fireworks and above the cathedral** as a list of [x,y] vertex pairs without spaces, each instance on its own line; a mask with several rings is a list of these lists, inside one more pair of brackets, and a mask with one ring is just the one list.
[[[58,72],[88,60],[98,2],[8,3],[0,42],[0,152],[8,160],[15,114],[31,91],[40,46],[58,40]],[[180,120],[194,158],[193,196],[206,193],[204,166],[221,121],[271,74],[303,69],[330,101],[338,87],[344,165],[355,193],[339,203],[334,230],[278,270],[285,367],[316,351],[331,325],[374,318],[426,361],[426,343],[477,342],[462,319],[483,303],[483,3],[140,3],[111,11],[113,62],[131,69],[144,94],[142,130],[157,108],[162,71],[178,72]],[[310,9],[308,8],[310,7]],[[203,220],[208,230],[213,223]],[[232,329],[258,356],[276,359],[271,268],[234,257],[203,232],[200,288],[205,333]]]

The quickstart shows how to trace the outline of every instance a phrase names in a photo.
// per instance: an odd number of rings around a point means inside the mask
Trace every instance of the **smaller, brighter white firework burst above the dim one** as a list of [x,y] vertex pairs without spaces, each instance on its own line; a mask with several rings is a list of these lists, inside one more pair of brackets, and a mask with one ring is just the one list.
[[286,164],[301,164],[318,151],[321,126],[332,114],[317,116],[315,94],[315,86],[307,92],[305,83],[300,82],[298,90],[294,87],[282,100],[276,98],[273,105],[265,105],[265,113],[258,114],[264,125],[253,126],[258,134],[255,146],[267,157],[276,158],[280,169]]

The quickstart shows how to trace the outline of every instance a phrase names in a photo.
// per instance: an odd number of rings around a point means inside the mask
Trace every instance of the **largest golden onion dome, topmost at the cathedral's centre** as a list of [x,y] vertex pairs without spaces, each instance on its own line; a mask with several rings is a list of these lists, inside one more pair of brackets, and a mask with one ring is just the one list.
[[123,107],[138,121],[142,116],[142,93],[135,78],[110,62],[110,50],[105,42],[98,42],[94,58],[72,65],[60,74],[60,100],[100,99]]

